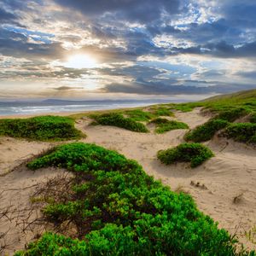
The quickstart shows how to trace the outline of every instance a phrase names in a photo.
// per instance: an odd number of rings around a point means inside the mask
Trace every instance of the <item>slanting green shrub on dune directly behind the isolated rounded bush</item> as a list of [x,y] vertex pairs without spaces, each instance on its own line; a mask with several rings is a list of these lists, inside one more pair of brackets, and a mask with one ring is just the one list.
[[206,142],[210,140],[217,131],[224,129],[227,125],[229,125],[229,122],[223,119],[211,119],[207,121],[207,123],[199,125],[195,127],[194,130],[186,133],[184,139],[195,143]]

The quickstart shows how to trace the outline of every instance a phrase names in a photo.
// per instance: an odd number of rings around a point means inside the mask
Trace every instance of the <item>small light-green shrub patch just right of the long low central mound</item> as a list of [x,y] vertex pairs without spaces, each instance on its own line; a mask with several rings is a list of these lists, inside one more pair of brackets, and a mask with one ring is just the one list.
[[153,119],[150,123],[154,123],[156,125],[156,133],[164,133],[166,131],[172,131],[176,129],[189,129],[189,125],[175,120],[157,118]]

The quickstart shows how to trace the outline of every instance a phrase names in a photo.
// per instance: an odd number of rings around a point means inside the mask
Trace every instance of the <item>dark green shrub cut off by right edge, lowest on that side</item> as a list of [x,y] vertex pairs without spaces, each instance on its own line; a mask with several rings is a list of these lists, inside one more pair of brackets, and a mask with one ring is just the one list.
[[241,143],[256,143],[256,124],[236,123],[229,125],[222,133],[224,137],[233,138]]

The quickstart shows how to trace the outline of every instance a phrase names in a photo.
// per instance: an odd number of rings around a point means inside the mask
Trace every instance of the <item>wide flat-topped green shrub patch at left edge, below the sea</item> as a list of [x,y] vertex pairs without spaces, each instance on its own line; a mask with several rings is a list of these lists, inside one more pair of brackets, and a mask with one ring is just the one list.
[[61,141],[84,137],[75,129],[74,120],[60,116],[39,116],[30,119],[0,119],[0,136],[39,141]]

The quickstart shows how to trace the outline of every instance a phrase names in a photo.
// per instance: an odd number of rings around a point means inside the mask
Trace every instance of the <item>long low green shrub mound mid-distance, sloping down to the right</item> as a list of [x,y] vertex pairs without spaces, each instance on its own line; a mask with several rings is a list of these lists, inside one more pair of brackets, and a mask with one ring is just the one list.
[[130,131],[148,132],[145,125],[136,122],[134,119],[125,118],[121,113],[103,113],[93,116],[93,118],[100,125],[112,125]]

